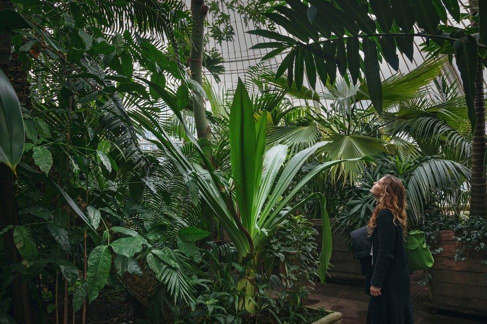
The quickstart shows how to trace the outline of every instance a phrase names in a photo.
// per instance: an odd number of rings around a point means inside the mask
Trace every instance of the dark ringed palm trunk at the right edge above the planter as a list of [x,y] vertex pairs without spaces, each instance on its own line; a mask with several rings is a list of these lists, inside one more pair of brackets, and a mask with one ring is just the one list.
[[487,217],[487,181],[484,170],[486,156],[486,105],[484,96],[484,65],[479,60],[475,78],[474,99],[477,123],[472,144],[472,187],[470,214]]

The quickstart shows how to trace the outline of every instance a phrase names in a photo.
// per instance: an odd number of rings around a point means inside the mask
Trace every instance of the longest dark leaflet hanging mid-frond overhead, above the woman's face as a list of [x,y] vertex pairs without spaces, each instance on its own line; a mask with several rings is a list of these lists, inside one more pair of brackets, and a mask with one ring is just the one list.
[[368,37],[363,39],[365,80],[370,101],[377,113],[382,113],[382,83],[380,79],[380,66],[377,60],[377,47]]

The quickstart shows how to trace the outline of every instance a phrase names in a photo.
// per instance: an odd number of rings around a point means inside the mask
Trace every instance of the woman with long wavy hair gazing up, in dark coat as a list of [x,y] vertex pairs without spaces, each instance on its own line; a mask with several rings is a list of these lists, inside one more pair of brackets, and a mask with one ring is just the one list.
[[370,302],[367,323],[413,323],[409,269],[404,250],[407,234],[406,190],[401,180],[387,174],[370,192],[377,205],[367,229],[372,236]]

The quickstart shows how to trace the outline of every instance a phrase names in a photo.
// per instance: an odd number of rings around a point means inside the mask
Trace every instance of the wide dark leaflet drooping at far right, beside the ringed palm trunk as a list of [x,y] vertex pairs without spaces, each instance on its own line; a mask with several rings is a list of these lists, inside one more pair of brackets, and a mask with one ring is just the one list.
[[465,101],[469,108],[469,119],[472,125],[472,133],[477,124],[474,99],[476,94],[475,77],[477,75],[477,41],[470,35],[457,39],[453,42],[457,54],[457,67],[460,71],[462,84],[465,91]]

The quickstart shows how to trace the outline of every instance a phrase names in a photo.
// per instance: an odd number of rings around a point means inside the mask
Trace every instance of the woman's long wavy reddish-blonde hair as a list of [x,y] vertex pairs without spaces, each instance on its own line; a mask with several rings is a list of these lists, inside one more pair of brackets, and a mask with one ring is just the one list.
[[408,217],[406,214],[406,189],[400,179],[391,174],[384,176],[384,194],[377,202],[372,217],[367,223],[367,232],[372,235],[377,226],[377,216],[382,209],[389,209],[394,215],[394,224],[399,222],[403,226],[403,235],[408,232]]

